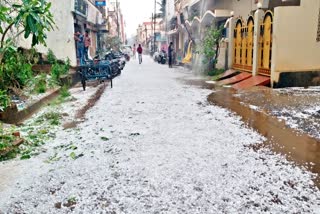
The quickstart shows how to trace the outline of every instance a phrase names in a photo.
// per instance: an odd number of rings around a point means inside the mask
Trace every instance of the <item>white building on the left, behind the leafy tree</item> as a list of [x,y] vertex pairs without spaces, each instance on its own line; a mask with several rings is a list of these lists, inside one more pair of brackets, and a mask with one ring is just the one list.
[[[72,66],[77,66],[76,42],[74,33],[89,31],[91,46],[89,55],[92,57],[100,48],[102,35],[108,32],[106,7],[95,6],[94,0],[51,0],[51,13],[56,27],[47,33],[47,46],[37,45],[39,53],[46,54],[51,49],[61,60],[70,59]],[[20,36],[18,46],[29,49],[31,39]]]

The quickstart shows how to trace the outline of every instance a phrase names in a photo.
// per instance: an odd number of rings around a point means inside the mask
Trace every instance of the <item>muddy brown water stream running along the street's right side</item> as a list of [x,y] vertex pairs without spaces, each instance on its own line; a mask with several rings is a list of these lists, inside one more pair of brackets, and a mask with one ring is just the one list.
[[204,83],[203,80],[187,81],[187,84],[215,89],[215,92],[208,96],[210,104],[230,109],[240,115],[245,124],[258,131],[267,139],[258,147],[253,145],[253,149],[270,148],[276,153],[285,155],[287,160],[294,161],[307,170],[316,173],[317,176],[314,182],[320,188],[319,140],[307,134],[298,133],[274,116],[242,105],[241,102],[243,100],[238,96],[234,96],[236,91],[232,88],[215,87],[215,85]]

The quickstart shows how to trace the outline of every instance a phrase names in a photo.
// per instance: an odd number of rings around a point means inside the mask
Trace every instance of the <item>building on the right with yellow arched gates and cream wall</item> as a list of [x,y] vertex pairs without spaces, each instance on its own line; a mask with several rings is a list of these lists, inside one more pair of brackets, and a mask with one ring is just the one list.
[[188,47],[199,44],[207,27],[223,25],[219,68],[267,76],[274,87],[320,84],[315,81],[320,76],[320,0],[176,0],[174,4],[178,26],[168,30],[168,38],[178,44],[176,51],[184,63],[199,62],[199,54]]

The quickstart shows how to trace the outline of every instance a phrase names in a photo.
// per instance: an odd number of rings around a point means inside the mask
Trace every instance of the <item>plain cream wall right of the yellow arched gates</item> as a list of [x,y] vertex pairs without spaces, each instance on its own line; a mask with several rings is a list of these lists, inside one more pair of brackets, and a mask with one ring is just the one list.
[[[281,72],[320,69],[320,0],[301,0],[301,6],[275,8],[271,78]],[[318,29],[319,28],[319,29]]]

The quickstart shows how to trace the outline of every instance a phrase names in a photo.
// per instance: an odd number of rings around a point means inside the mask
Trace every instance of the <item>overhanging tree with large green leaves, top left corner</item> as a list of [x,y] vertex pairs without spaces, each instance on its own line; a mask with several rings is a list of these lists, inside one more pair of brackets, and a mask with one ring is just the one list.
[[[46,45],[46,33],[54,29],[51,3],[46,0],[22,0],[21,4],[5,1],[0,3],[0,63],[13,41],[21,34],[32,37],[32,46]],[[8,36],[9,32],[14,32]]]

